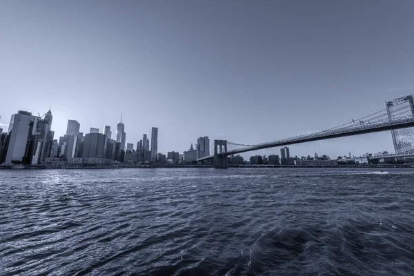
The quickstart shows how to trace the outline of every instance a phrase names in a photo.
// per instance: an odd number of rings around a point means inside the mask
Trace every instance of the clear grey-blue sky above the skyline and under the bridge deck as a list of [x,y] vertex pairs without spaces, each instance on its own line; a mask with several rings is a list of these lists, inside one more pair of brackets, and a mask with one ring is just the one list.
[[[324,130],[414,92],[414,1],[0,1],[0,127],[51,106],[159,152],[197,137],[257,144]],[[3,125],[3,126],[1,126]],[[393,151],[380,132],[290,155]],[[269,155],[278,148],[248,152]]]

